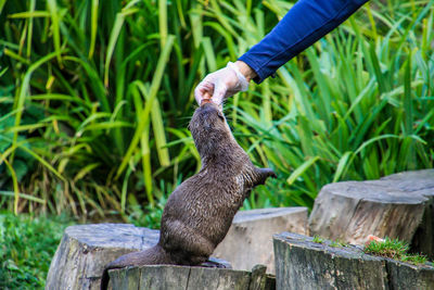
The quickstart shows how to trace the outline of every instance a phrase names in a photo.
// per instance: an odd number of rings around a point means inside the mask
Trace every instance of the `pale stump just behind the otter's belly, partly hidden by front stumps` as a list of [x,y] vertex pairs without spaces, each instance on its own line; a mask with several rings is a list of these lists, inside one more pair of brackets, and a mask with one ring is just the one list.
[[260,209],[238,212],[214,255],[229,261],[234,269],[248,270],[256,264],[275,274],[272,235],[292,231],[307,235],[306,207]]

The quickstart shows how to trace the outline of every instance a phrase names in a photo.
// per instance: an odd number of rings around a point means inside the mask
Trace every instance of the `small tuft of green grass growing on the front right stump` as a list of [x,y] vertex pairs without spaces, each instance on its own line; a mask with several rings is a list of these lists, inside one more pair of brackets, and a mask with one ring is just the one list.
[[399,260],[414,265],[426,263],[426,256],[421,254],[408,254],[408,243],[386,237],[384,241],[371,241],[365,247],[363,252]]

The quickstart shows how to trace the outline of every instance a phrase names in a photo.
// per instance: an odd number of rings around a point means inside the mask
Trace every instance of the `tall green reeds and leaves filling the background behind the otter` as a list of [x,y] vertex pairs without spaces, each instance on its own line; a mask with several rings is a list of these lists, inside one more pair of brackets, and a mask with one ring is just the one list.
[[[187,130],[194,86],[293,2],[0,0],[0,207],[157,227],[167,196],[200,168]],[[433,22],[432,0],[371,1],[230,99],[237,139],[279,175],[244,207],[310,207],[331,181],[433,167]],[[2,239],[51,228],[1,218]],[[21,281],[23,255],[8,247],[0,276]]]

